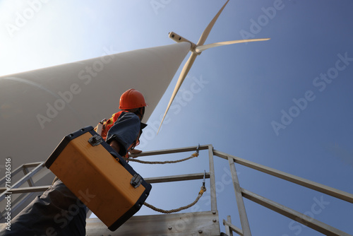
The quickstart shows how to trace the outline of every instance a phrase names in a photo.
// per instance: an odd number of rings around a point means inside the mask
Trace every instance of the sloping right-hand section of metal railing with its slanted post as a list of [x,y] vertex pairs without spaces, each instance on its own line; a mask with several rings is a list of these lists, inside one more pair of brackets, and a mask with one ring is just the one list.
[[313,230],[321,232],[325,235],[337,235],[337,236],[349,235],[346,232],[343,232],[342,230],[338,230],[337,228],[333,228],[332,226],[327,225],[325,223],[322,223],[321,221],[315,220],[313,218],[308,219],[308,217],[306,215],[304,215],[303,213],[299,213],[298,211],[294,211],[293,209],[288,208],[286,206],[283,206],[280,203],[276,203],[275,201],[271,201],[270,199],[266,199],[263,196],[260,196],[258,194],[254,194],[251,191],[248,191],[246,189],[241,188],[240,184],[239,184],[238,177],[237,177],[237,171],[235,169],[234,164],[237,163],[239,165],[244,165],[246,167],[250,167],[254,170],[264,172],[268,175],[273,175],[273,176],[278,177],[280,179],[285,179],[289,182],[299,184],[299,185],[301,185],[303,187],[307,187],[309,189],[320,191],[323,194],[328,194],[330,196],[333,196],[337,199],[342,199],[342,200],[347,201],[349,203],[353,203],[353,194],[349,194],[345,191],[334,189],[332,187],[328,187],[323,184],[318,184],[318,183],[313,182],[311,180],[297,177],[295,175],[290,175],[290,174],[287,174],[287,173],[282,172],[280,170],[275,170],[273,168],[266,167],[265,165],[253,163],[249,160],[237,158],[234,155],[229,155],[227,153],[222,153],[220,151],[213,151],[213,153],[214,153],[214,155],[216,155],[220,158],[228,160],[229,167],[232,172],[234,191],[237,196],[237,204],[238,204],[238,210],[239,210],[239,216],[240,216],[242,230],[237,228],[236,226],[232,225],[232,221],[231,221],[230,217],[228,217],[227,220],[223,220],[223,224],[225,225],[226,232],[229,233],[229,236],[232,235],[232,232],[237,232],[237,234],[244,235],[244,236],[251,235],[248,218],[246,217],[243,198],[246,198],[246,199],[249,199],[253,202],[256,202],[256,203],[260,204],[261,206],[265,206],[266,208],[269,208],[270,210],[273,210],[277,213],[280,213],[283,216],[287,216],[288,218],[291,218],[292,220],[295,220],[298,223],[304,224],[304,225],[308,226],[309,228],[312,228]]

